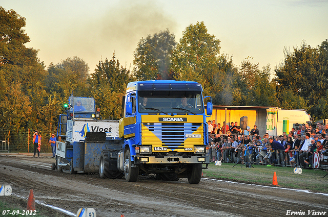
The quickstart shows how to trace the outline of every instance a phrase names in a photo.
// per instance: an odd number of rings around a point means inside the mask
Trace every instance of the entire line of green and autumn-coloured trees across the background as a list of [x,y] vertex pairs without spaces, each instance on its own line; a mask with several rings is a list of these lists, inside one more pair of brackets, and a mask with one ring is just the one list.
[[121,66],[115,54],[92,70],[78,57],[46,67],[38,50],[25,46],[30,40],[25,25],[24,17],[0,7],[1,137],[38,129],[48,139],[72,91],[94,97],[104,118],[118,119],[127,84],[150,79],[197,81],[214,105],[278,106],[306,109],[316,119],[328,117],[327,40],[317,47],[303,42],[293,51],[285,49],[270,79],[270,65],[259,68],[247,58],[236,66],[231,56],[220,54],[220,40],[203,22],[188,26],[179,42],[168,29],[141,38],[132,70]]

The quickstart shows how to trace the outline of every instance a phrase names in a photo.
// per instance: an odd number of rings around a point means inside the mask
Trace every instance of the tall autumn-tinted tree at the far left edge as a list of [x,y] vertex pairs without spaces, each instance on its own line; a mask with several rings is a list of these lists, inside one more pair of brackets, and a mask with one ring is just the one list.
[[[20,127],[27,127],[33,124],[37,119],[38,109],[44,103],[44,78],[46,71],[44,64],[39,62],[37,58],[37,50],[27,48],[25,43],[30,41],[30,38],[25,34],[23,29],[26,25],[24,17],[18,15],[13,10],[6,11],[0,7],[0,101],[15,102],[9,94],[12,93],[12,88],[17,88],[19,98],[29,102],[30,109],[26,107],[26,113],[23,115],[26,121],[15,123],[12,127],[16,130]],[[19,84],[19,86],[17,86]],[[17,93],[18,94],[18,93]],[[7,122],[6,106],[2,104],[0,108],[0,119],[2,122]],[[22,110],[24,112],[24,110]],[[15,115],[14,115],[15,116]],[[27,121],[30,120],[30,121]],[[26,126],[23,126],[26,124]]]

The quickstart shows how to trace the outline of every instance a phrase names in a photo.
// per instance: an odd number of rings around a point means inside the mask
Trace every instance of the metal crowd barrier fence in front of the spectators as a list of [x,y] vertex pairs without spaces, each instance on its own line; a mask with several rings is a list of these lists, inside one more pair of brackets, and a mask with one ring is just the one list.
[[[227,163],[238,163],[241,162],[249,162],[254,164],[272,164],[277,166],[290,166],[290,167],[298,167],[302,166],[300,164],[299,152],[289,151],[285,152],[284,150],[277,150],[269,155],[259,155],[258,149],[248,149],[242,152],[241,149],[214,149],[210,148],[209,152],[210,161],[221,160],[222,162]],[[308,159],[309,155],[306,154],[304,159]],[[302,160],[304,160],[302,159]],[[312,164],[310,162],[310,164]],[[305,167],[309,167],[308,164],[304,164]],[[313,165],[312,165],[313,166]]]

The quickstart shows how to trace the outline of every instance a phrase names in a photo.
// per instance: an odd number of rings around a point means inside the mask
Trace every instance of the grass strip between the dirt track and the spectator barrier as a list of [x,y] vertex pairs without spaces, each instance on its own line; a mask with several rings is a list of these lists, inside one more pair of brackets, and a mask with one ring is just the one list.
[[216,166],[212,162],[207,170],[203,170],[203,175],[219,180],[272,186],[273,175],[276,172],[280,187],[306,189],[328,194],[326,187],[328,176],[322,178],[328,172],[323,170],[304,169],[302,174],[295,174],[294,167],[252,164],[254,168],[249,168],[245,167],[244,164],[237,164],[233,167],[234,165],[234,163],[222,163],[221,166]]

